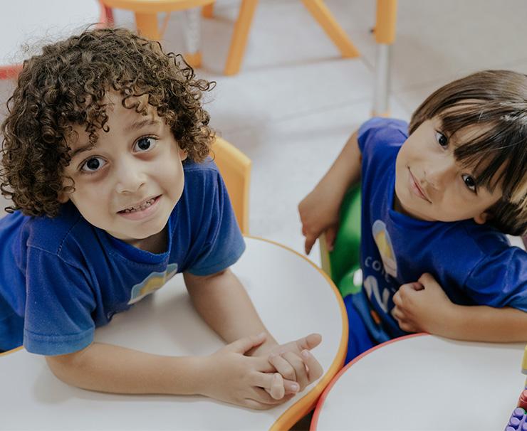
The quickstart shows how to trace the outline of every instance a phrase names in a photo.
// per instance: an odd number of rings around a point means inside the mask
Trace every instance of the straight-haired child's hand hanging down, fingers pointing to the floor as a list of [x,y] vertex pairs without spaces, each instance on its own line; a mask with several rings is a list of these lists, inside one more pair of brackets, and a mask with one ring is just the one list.
[[298,213],[302,223],[302,235],[306,237],[306,255],[321,233],[325,232],[325,243],[328,250],[333,244],[340,225],[340,201],[335,201],[323,186],[317,186],[298,204]]

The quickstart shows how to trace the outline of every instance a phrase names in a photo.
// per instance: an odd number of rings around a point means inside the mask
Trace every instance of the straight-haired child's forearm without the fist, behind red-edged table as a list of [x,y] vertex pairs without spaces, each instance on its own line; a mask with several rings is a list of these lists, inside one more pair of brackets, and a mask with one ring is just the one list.
[[452,304],[442,328],[433,333],[465,341],[526,342],[527,313],[512,307]]

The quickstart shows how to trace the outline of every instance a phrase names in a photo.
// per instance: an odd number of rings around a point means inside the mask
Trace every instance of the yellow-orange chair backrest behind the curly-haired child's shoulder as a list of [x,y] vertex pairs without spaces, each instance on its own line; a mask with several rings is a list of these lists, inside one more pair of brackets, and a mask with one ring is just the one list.
[[249,233],[251,159],[220,137],[216,137],[216,141],[212,144],[211,157],[225,181],[241,233],[247,235]]

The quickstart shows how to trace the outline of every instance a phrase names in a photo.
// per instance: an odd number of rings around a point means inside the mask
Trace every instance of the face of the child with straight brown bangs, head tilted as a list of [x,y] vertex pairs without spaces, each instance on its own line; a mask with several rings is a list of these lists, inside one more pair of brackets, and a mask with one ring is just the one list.
[[476,187],[474,172],[454,158],[461,142],[484,129],[466,127],[448,139],[440,127],[440,119],[427,120],[402,145],[395,165],[394,209],[420,220],[473,218],[485,223],[486,210],[501,198],[501,187],[492,192]]

